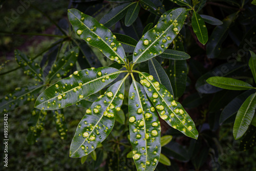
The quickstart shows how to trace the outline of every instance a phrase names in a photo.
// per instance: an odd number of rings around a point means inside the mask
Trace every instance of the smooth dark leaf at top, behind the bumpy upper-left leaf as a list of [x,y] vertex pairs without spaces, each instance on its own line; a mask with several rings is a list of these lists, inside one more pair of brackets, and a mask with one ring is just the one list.
[[136,2],[124,3],[113,8],[100,19],[99,23],[103,24],[105,27],[113,26],[126,14],[129,7],[135,3]]

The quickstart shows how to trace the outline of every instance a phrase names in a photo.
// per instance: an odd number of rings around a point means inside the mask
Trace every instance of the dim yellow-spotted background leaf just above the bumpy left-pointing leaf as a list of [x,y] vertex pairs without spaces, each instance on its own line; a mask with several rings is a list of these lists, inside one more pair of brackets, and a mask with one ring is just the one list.
[[59,58],[58,61],[52,66],[49,75],[47,76],[48,80],[52,80],[56,77],[66,76],[70,69],[74,67],[74,64],[77,60],[79,50],[77,47],[72,48],[70,51],[66,52],[65,55]]

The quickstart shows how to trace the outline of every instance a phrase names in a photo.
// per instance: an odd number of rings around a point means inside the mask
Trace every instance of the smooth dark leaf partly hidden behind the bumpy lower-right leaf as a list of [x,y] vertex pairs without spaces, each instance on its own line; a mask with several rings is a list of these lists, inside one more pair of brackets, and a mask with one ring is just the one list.
[[165,73],[163,67],[160,63],[152,58],[148,60],[148,68],[150,69],[150,74],[171,93],[173,94],[173,88],[170,84],[170,80]]

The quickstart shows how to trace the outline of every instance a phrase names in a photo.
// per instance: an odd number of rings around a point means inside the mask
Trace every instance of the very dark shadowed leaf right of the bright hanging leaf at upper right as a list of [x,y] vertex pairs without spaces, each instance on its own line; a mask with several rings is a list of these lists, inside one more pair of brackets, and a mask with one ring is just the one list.
[[216,58],[219,56],[222,42],[227,37],[228,29],[234,19],[236,19],[236,13],[224,18],[223,24],[216,26],[214,31],[211,33],[208,44],[206,46],[206,53],[208,58]]

